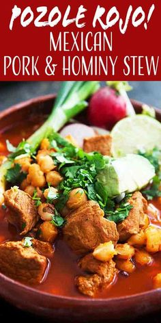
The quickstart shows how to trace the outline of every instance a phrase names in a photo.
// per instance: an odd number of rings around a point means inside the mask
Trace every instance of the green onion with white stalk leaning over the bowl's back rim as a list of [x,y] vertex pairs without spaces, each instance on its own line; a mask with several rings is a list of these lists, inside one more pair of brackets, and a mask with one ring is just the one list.
[[[59,131],[70,118],[83,111],[87,107],[86,100],[99,87],[98,81],[65,81],[61,83],[52,112],[44,124],[27,140],[32,151],[36,151],[43,138],[48,137],[52,131]],[[3,203],[3,192],[5,192],[5,175],[11,167],[12,161],[10,159],[0,167],[0,204]]]

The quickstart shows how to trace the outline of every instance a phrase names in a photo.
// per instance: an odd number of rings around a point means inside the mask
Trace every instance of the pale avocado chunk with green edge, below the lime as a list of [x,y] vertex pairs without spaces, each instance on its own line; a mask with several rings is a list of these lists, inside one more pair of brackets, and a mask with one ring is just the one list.
[[141,155],[128,154],[117,159],[106,158],[106,165],[100,170],[97,180],[109,197],[123,192],[131,193],[144,188],[155,176],[155,168]]

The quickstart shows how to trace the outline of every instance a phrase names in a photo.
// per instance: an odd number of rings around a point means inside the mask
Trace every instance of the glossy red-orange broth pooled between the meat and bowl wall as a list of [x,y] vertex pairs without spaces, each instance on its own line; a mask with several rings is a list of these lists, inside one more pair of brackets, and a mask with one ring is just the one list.
[[[23,138],[29,137],[37,127],[38,125],[35,125],[35,122],[30,122],[30,127],[28,127],[26,122],[23,122],[2,131],[0,133],[0,154],[7,154],[5,146],[6,139],[16,145]],[[149,212],[151,223],[161,227],[161,201],[158,198],[152,201],[151,205],[156,208],[156,216],[154,218],[151,212]],[[8,224],[6,211],[0,209],[0,242],[18,239],[20,237],[16,233],[16,229]],[[114,298],[153,289],[152,278],[161,272],[161,253],[153,255],[153,259],[154,261],[151,266],[137,266],[136,270],[129,276],[123,276],[123,274],[119,273],[115,281],[100,292],[97,297]],[[61,296],[85,298],[74,287],[75,277],[78,274],[83,274],[77,266],[77,261],[78,256],[74,255],[70,248],[68,248],[61,236],[58,237],[55,242],[55,254],[50,261],[48,275],[43,283],[35,286],[35,289]]]

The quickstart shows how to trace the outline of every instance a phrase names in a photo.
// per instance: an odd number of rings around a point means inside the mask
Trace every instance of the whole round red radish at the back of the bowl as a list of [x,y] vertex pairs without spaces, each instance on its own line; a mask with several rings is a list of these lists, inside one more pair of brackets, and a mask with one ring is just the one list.
[[91,97],[88,109],[91,125],[111,129],[126,115],[126,100],[113,88],[100,88]]

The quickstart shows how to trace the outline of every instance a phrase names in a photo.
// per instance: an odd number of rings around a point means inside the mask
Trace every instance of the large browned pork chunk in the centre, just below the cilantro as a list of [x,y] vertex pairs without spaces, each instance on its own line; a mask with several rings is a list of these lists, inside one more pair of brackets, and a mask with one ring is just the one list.
[[117,243],[119,235],[115,222],[104,217],[104,211],[94,201],[87,201],[67,217],[63,228],[65,241],[77,254],[88,253],[98,244]]

